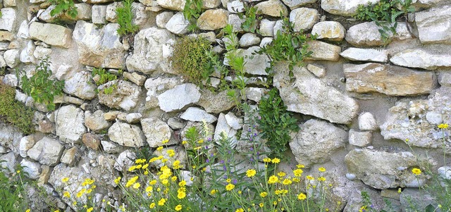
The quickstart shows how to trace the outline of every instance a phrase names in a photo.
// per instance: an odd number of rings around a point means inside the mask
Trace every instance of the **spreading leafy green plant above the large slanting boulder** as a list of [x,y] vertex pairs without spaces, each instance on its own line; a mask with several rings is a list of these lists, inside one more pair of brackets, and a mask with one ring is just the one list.
[[293,66],[302,66],[304,58],[313,54],[312,51],[307,50],[307,42],[312,39],[316,39],[316,36],[295,32],[290,20],[286,17],[283,18],[283,30],[278,30],[273,42],[262,47],[258,52],[267,54],[271,58],[271,68],[266,71],[271,74],[273,66],[279,61],[288,61],[290,70],[293,69]]

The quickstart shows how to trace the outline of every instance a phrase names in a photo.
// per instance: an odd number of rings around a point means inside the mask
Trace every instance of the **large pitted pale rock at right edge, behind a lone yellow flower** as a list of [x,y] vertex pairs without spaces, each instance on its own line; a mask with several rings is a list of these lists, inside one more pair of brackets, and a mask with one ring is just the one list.
[[[439,89],[431,99],[400,101],[388,110],[381,125],[384,139],[400,139],[411,146],[442,148],[443,137],[450,130],[438,129],[438,123],[451,123],[450,91]],[[451,153],[451,144],[445,142],[445,151]]]

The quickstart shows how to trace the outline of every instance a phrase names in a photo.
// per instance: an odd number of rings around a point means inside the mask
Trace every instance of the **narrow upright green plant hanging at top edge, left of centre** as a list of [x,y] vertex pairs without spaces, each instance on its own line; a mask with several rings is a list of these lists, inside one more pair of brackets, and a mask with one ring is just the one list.
[[118,34],[128,35],[140,30],[137,25],[132,23],[132,2],[133,0],[122,1],[123,6],[116,8],[116,15],[118,15]]

